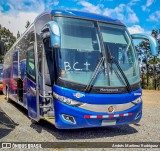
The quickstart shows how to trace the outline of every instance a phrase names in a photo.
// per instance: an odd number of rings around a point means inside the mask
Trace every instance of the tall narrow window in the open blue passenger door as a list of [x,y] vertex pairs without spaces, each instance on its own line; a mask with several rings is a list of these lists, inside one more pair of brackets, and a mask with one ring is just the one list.
[[33,81],[36,80],[35,58],[33,47],[27,52],[27,76]]

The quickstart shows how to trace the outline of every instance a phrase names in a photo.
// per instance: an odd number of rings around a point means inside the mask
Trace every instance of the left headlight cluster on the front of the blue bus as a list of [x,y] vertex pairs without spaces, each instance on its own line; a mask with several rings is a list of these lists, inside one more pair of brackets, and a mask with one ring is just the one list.
[[68,105],[71,105],[71,106],[81,106],[83,103],[82,102],[78,102],[78,101],[75,101],[75,100],[72,100],[70,98],[67,98],[67,97],[64,97],[64,96],[61,96],[55,92],[53,92],[53,96],[54,98],[56,98],[57,100],[65,103],[65,104],[68,104]]

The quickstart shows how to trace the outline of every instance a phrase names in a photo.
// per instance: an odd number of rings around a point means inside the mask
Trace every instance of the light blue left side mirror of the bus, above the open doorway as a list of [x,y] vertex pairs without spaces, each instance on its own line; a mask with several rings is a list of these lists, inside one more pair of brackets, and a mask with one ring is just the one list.
[[41,29],[41,37],[44,40],[45,38],[50,38],[50,46],[53,48],[60,48],[61,46],[61,36],[60,36],[60,27],[55,21],[48,22]]

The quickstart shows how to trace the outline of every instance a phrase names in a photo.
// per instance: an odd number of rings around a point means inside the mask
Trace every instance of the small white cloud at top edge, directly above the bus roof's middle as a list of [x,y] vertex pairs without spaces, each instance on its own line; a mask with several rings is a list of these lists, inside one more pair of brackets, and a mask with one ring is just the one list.
[[102,4],[95,6],[95,5],[93,5],[89,2],[86,2],[86,1],[80,1],[80,2],[78,2],[78,4],[83,6],[82,10],[92,12],[92,13],[97,13],[97,14],[101,13],[101,8],[103,7]]

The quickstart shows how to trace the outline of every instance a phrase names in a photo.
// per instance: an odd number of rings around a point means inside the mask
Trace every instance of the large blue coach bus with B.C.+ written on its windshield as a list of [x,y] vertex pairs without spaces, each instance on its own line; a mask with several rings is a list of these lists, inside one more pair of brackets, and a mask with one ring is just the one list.
[[4,58],[3,92],[58,129],[134,124],[142,117],[133,39],[117,19],[73,10],[39,15]]

